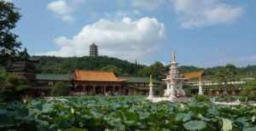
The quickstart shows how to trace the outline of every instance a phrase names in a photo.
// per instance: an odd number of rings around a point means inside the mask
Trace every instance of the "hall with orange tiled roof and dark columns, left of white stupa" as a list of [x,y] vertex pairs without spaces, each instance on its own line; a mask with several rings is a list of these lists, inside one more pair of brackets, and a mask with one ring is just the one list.
[[125,79],[111,71],[76,70],[73,74],[74,95],[118,95],[125,94]]

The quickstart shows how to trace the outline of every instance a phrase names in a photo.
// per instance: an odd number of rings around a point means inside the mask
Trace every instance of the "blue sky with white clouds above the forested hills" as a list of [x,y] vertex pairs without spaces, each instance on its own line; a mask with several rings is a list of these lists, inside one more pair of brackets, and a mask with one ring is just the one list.
[[[10,1],[10,0],[9,0]],[[99,54],[143,64],[256,64],[255,0],[12,0],[33,55]]]

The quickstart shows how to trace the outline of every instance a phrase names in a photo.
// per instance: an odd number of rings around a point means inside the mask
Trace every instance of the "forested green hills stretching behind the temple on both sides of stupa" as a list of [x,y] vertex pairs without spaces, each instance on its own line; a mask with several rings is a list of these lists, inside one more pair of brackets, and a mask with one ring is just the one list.
[[[108,56],[97,57],[54,57],[54,56],[34,56],[40,61],[37,64],[37,70],[41,73],[72,73],[75,69],[96,70],[96,71],[113,71],[118,76],[132,77],[149,77],[153,75],[155,79],[161,80],[168,71],[169,66],[163,65],[161,62],[155,62],[152,65],[139,65],[136,62],[131,63],[127,60],[119,60]],[[181,73],[190,71],[206,72],[207,76],[214,77],[216,73],[228,67],[236,71],[240,77],[256,77],[256,65],[248,65],[247,67],[236,67],[235,65],[216,66],[212,68],[199,68],[193,65],[181,65],[178,70]]]

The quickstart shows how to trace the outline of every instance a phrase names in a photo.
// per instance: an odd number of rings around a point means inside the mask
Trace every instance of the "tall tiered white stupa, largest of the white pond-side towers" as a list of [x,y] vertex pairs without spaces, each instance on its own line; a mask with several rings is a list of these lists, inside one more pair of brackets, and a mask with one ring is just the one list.
[[184,78],[181,77],[179,72],[177,71],[176,56],[175,53],[172,53],[172,60],[170,71],[166,75],[166,79],[164,79],[166,83],[165,97],[168,97],[169,100],[174,101],[177,97],[185,97],[186,94],[183,90],[183,81]]

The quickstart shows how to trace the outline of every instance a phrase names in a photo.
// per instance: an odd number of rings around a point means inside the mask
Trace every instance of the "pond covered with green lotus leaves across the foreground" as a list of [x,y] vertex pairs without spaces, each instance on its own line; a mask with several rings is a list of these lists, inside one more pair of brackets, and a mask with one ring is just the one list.
[[58,97],[1,103],[0,130],[256,131],[256,108],[195,100],[152,103],[142,96]]

